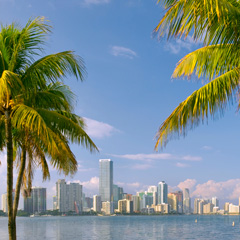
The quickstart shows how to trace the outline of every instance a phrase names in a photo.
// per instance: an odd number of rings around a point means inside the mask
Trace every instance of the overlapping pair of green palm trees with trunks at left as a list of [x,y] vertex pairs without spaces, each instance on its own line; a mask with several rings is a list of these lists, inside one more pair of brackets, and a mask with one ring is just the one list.
[[[65,175],[77,171],[69,143],[90,152],[96,145],[73,113],[74,94],[61,80],[67,74],[83,80],[83,60],[72,51],[39,58],[51,26],[42,18],[22,28],[13,23],[0,32],[0,150],[7,150],[9,239],[17,239],[16,215],[22,189],[29,195],[33,171],[40,167],[50,178],[48,164]],[[37,58],[37,59],[36,59]],[[18,170],[13,191],[13,168]]]

